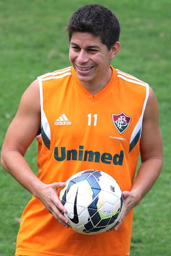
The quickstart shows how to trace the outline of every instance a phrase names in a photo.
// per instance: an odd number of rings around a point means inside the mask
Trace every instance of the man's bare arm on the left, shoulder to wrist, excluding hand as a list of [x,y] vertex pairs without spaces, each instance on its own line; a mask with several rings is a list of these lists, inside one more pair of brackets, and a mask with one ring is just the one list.
[[32,194],[38,178],[32,173],[24,156],[40,128],[39,105],[38,84],[33,82],[22,96],[18,112],[7,130],[1,154],[3,168]]

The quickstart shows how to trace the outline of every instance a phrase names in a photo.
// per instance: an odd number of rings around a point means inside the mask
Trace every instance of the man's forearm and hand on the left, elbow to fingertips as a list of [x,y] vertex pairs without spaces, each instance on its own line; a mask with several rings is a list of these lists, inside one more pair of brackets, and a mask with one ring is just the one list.
[[66,209],[59,201],[57,195],[58,189],[66,185],[64,182],[44,184],[34,172],[32,172],[21,153],[17,151],[3,152],[1,163],[3,168],[7,170],[15,180],[42,201],[48,212],[50,212],[57,221],[68,228],[68,220],[62,214],[62,212],[66,213]]

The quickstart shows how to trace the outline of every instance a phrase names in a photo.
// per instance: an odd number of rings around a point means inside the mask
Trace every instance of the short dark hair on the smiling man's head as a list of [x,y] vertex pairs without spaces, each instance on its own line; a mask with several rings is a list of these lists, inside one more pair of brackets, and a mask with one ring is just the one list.
[[88,32],[100,36],[108,50],[119,40],[119,20],[103,5],[85,5],[72,14],[67,26],[69,40],[73,32]]

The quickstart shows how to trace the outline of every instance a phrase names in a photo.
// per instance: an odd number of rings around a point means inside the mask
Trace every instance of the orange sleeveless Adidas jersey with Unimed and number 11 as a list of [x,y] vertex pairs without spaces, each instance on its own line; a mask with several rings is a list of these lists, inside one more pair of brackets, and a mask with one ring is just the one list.
[[[111,174],[122,190],[131,190],[148,84],[111,68],[110,82],[95,96],[81,86],[71,67],[38,78],[42,108],[38,177],[44,183],[99,169]],[[16,254],[129,255],[132,218],[133,211],[116,232],[79,234],[59,224],[33,196],[22,215]]]

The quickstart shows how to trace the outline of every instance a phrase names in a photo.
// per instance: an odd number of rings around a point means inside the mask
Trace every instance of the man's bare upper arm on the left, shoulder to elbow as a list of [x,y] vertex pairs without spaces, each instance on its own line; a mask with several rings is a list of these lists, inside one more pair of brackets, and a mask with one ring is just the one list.
[[25,152],[40,130],[40,96],[38,80],[28,86],[19,103],[3,143],[3,152]]

